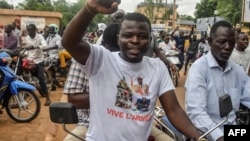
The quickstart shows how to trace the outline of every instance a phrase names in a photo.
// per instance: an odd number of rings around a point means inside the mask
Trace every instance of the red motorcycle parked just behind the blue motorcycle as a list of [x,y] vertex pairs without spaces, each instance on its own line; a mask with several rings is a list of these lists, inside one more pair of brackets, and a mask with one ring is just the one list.
[[[24,59],[23,55],[26,51],[28,51],[28,47],[22,47],[19,52],[16,65],[14,66],[14,72],[18,78],[26,83],[33,85],[39,92],[39,94],[44,97],[45,95],[41,91],[41,87],[39,84],[39,80],[36,77],[36,64],[32,60]],[[44,78],[48,88],[48,93],[50,94],[53,85],[52,72],[44,68]]]

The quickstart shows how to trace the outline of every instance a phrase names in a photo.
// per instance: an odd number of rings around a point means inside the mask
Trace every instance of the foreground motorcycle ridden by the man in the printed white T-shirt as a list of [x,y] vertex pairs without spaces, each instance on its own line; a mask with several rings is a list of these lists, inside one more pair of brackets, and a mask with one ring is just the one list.
[[[202,136],[200,136],[199,139],[197,140],[186,138],[181,132],[179,132],[168,120],[162,107],[156,107],[154,115],[154,123],[158,129],[168,134],[175,141],[207,141],[206,139],[204,139],[204,137],[206,137],[216,128],[223,125],[228,120],[228,114],[233,110],[231,98],[227,94],[219,98],[219,105],[220,105],[220,116],[225,118],[207,132],[203,133],[201,131]],[[71,134],[72,136],[78,138],[79,140],[85,141],[81,137],[73,134],[66,127],[66,124],[78,123],[76,108],[72,103],[65,103],[65,102],[51,103],[49,107],[49,113],[50,113],[50,120],[52,122],[62,124],[65,132]]]

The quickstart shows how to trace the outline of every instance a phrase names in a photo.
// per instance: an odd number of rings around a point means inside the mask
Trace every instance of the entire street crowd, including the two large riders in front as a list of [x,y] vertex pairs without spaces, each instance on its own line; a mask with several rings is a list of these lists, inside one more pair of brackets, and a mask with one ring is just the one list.
[[[193,27],[188,35],[177,27],[171,33],[160,31],[156,37],[146,16],[117,11],[118,5],[115,0],[88,0],[62,36],[56,25],[45,27],[43,36],[36,32],[35,25],[27,26],[25,43],[33,47],[27,57],[35,60],[38,71],[42,72],[44,67],[43,51],[48,50],[49,55],[64,61],[72,58],[63,93],[77,108],[79,123],[73,132],[88,141],[145,141],[150,137],[155,141],[170,141],[167,134],[152,126],[159,99],[173,126],[185,137],[197,140],[222,121],[219,98],[224,94],[231,97],[233,104],[225,124],[236,125],[240,104],[250,108],[249,35],[222,20],[200,39]],[[112,20],[86,35],[97,14],[111,14]],[[6,35],[15,41],[15,47],[5,45],[8,40],[4,37],[2,48],[18,47],[20,38],[14,35],[14,28],[10,25],[4,28]],[[93,34],[95,38],[90,40],[89,35]],[[185,40],[190,43],[187,50]],[[180,52],[179,66],[166,59],[164,53],[169,50]],[[61,67],[64,64],[61,62]],[[186,111],[176,98],[169,74],[169,68],[181,70],[183,66],[187,75]],[[48,106],[51,100],[44,78],[39,74],[38,78]],[[206,139],[224,141],[223,133],[221,126]],[[64,140],[78,139],[68,135]]]

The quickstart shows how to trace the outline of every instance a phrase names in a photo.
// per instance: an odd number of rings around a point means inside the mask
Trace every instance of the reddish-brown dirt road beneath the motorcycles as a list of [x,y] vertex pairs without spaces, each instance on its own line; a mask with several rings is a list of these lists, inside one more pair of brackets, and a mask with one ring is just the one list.
[[[179,86],[176,88],[177,98],[184,108],[184,81],[186,79],[182,72],[179,79]],[[63,96],[63,97],[62,97]],[[53,102],[66,100],[62,94],[62,88],[51,93]],[[1,141],[62,141],[66,136],[61,125],[52,124],[49,118],[49,107],[43,106],[45,98],[40,97],[42,108],[39,116],[30,123],[17,123],[10,119],[3,110],[0,114],[0,140]],[[67,126],[68,129],[73,129],[74,125]],[[48,136],[48,133],[55,134],[55,137]],[[51,138],[50,138],[51,137]]]

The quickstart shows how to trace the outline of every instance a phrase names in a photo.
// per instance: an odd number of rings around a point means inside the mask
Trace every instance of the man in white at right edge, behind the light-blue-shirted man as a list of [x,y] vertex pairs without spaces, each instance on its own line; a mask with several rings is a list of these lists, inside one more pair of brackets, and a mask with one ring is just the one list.
[[236,35],[236,46],[230,56],[230,60],[243,67],[245,72],[249,74],[250,65],[250,48],[247,48],[249,44],[248,35],[240,32]]

